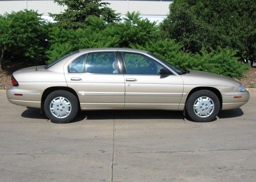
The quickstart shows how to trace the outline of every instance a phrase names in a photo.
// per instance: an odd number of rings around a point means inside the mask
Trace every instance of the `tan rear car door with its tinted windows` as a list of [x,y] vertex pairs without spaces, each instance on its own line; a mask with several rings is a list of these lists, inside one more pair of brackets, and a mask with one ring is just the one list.
[[115,52],[81,55],[69,64],[65,76],[78,93],[81,109],[124,108],[124,78]]

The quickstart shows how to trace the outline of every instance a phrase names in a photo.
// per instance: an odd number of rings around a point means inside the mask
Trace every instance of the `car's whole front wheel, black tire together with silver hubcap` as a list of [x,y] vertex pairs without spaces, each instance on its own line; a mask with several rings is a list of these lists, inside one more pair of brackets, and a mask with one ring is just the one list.
[[198,90],[191,94],[186,102],[186,113],[196,122],[213,121],[219,111],[220,100],[210,90]]

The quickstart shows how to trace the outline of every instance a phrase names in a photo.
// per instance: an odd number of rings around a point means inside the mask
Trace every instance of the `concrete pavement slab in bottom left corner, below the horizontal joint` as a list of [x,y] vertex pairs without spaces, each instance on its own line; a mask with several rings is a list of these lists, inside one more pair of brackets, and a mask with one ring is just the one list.
[[112,154],[2,154],[2,181],[110,181]]

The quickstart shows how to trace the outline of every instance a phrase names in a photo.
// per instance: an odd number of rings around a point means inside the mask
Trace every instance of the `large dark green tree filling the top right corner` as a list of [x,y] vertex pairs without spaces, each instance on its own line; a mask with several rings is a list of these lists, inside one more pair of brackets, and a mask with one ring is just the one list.
[[218,46],[239,50],[240,60],[255,60],[256,4],[250,0],[174,0],[161,25],[164,38],[184,50],[199,52]]

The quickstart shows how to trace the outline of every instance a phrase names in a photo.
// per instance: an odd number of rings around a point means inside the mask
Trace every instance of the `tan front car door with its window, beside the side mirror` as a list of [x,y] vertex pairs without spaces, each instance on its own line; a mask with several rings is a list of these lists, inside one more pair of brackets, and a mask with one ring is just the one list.
[[120,54],[126,70],[125,108],[178,109],[183,93],[180,75],[160,76],[160,70],[167,68],[146,54]]

